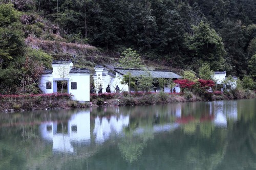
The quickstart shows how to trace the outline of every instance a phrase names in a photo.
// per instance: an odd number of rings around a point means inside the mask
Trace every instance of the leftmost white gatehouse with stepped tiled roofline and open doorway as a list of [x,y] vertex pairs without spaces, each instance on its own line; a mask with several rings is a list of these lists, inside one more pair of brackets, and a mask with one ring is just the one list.
[[87,68],[73,68],[72,60],[53,60],[52,70],[45,70],[39,82],[44,93],[57,92],[57,81],[67,81],[68,93],[76,101],[90,101],[90,74]]

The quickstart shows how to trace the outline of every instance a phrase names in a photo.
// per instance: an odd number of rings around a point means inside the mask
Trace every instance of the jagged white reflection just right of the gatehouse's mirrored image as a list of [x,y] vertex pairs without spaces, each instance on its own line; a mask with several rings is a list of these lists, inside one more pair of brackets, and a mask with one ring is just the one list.
[[96,136],[96,141],[103,142],[110,137],[111,133],[118,134],[122,132],[123,127],[128,125],[129,115],[120,115],[118,118],[115,115],[110,118],[97,116],[93,134]]

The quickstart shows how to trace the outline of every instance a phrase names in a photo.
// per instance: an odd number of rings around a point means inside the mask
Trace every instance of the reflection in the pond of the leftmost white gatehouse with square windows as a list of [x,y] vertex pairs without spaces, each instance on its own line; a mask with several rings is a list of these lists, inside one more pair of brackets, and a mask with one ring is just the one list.
[[73,152],[71,141],[91,141],[90,111],[81,111],[72,115],[68,124],[57,122],[41,124],[40,132],[42,138],[53,142],[53,151]]

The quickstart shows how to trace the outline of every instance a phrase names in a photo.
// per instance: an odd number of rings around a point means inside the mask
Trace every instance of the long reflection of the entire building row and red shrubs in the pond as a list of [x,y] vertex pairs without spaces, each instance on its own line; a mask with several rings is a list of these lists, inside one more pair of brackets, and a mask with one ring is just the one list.
[[[203,108],[198,106],[202,104]],[[199,127],[200,132],[209,137],[215,127],[226,128],[228,120],[237,120],[237,107],[237,102],[216,101],[129,109],[91,108],[77,111],[66,122],[42,123],[39,129],[42,138],[52,142],[53,151],[73,153],[72,142],[87,145],[91,142],[102,143],[111,136],[122,136],[127,132],[141,135],[149,129],[152,133],[158,133],[181,128],[185,134],[191,135]]]

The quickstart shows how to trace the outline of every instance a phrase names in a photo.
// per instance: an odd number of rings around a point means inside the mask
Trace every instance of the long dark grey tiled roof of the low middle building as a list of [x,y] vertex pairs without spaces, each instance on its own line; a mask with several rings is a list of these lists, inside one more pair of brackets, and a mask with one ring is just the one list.
[[[119,72],[121,75],[126,75],[129,73],[129,69],[123,69],[123,68],[114,68],[116,72]],[[130,69],[132,76],[139,77],[142,75],[147,75],[147,72],[141,69]],[[152,78],[171,78],[171,79],[180,79],[181,76],[175,74],[172,71],[169,70],[152,70],[149,71]]]

